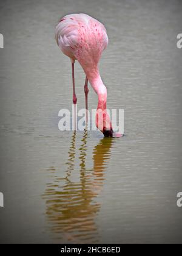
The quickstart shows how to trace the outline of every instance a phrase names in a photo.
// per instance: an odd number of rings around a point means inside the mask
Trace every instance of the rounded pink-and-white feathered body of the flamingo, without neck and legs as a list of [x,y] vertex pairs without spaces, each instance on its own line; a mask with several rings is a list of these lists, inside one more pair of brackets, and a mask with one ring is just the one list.
[[106,28],[95,18],[79,13],[66,15],[55,30],[56,42],[72,62],[83,66],[97,65],[108,44]]

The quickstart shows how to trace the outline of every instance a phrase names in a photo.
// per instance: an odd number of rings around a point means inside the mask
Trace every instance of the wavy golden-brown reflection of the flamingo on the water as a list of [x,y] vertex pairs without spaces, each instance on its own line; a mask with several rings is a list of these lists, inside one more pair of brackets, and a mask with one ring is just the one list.
[[[99,240],[95,216],[101,205],[95,201],[104,184],[104,169],[110,158],[112,138],[103,138],[93,148],[93,169],[86,168],[87,130],[84,131],[79,148],[79,181],[72,182],[70,176],[75,171],[76,132],[72,135],[67,160],[66,177],[56,176],[55,168],[49,168],[54,173],[54,180],[47,184],[44,193],[46,200],[46,215],[53,233],[60,240],[73,243],[97,243]],[[61,183],[63,182],[63,185]]]

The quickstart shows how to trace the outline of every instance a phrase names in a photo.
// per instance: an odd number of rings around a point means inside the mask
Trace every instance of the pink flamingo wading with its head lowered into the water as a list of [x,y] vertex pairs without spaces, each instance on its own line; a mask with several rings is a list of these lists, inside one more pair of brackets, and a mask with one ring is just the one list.
[[98,94],[96,111],[96,127],[105,137],[122,137],[113,132],[109,115],[106,111],[107,89],[98,71],[98,62],[108,44],[107,32],[102,23],[91,16],[79,13],[66,15],[59,20],[55,30],[55,38],[61,51],[70,57],[72,62],[73,104],[76,104],[74,63],[78,60],[86,74],[84,92],[86,110],[88,80]]

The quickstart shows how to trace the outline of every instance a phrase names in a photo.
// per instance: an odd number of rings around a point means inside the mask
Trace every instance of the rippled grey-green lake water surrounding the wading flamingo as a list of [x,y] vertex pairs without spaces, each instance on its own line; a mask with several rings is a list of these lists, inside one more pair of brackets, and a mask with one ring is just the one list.
[[[123,138],[58,129],[72,77],[54,29],[77,12],[106,26],[99,69]],[[1,243],[181,243],[181,13],[180,1],[1,1]],[[78,63],[75,79],[83,108]]]

